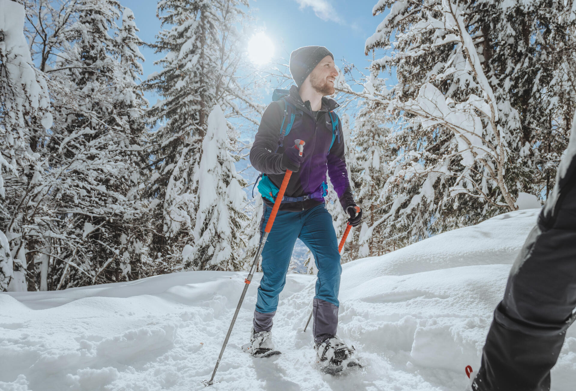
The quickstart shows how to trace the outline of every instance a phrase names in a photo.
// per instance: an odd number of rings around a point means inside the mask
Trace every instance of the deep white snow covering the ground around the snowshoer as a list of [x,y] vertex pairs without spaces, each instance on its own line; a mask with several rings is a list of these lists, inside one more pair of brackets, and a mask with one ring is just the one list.
[[[315,277],[290,274],[275,317],[283,354],[243,353],[256,301],[249,287],[213,390],[463,390],[478,369],[510,263],[538,210],[502,214],[376,258],[343,265],[339,335],[364,369],[320,374],[302,332]],[[0,294],[1,390],[202,390],[246,272],[194,271],[58,292]],[[573,389],[576,329],[552,371]]]

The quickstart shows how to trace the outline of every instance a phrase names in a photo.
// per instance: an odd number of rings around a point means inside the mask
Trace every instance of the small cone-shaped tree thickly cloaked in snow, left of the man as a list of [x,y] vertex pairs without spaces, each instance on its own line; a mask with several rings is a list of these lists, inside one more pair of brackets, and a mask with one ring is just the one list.
[[[231,149],[226,118],[216,105],[208,116],[202,158],[194,178],[198,191],[193,205],[198,205],[198,209],[191,232],[192,243],[183,251],[186,269],[242,269],[239,262],[245,246],[242,226],[248,220],[242,210],[245,181],[236,174]],[[182,204],[186,203],[186,198]]]

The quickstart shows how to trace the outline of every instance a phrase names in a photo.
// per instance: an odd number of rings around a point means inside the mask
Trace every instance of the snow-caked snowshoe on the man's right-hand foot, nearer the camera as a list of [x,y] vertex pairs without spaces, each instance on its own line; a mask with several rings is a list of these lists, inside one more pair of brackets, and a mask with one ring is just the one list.
[[354,356],[354,346],[348,347],[337,336],[330,336],[314,345],[316,361],[320,363],[320,371],[335,375],[344,369],[362,367]]

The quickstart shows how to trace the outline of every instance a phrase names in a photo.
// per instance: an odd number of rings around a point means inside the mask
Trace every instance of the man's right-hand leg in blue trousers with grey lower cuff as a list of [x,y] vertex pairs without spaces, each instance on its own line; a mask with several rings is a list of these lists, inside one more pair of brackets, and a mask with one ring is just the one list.
[[324,205],[316,206],[302,214],[300,240],[308,246],[316,267],[316,296],[313,302],[314,339],[336,335],[338,328],[338,292],[340,289],[340,254],[332,216]]

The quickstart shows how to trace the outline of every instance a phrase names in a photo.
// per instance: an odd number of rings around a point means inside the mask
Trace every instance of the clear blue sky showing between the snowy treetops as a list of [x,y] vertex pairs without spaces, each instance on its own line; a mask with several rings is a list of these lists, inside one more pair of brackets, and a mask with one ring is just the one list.
[[[358,68],[369,66],[372,53],[364,55],[366,39],[375,31],[384,16],[372,16],[377,0],[251,0],[256,27],[264,29],[273,41],[275,55],[289,59],[290,52],[306,45],[323,45],[334,53],[336,65],[344,58]],[[156,40],[160,21],[156,18],[155,0],[121,0],[134,11],[139,37],[146,42]],[[142,48],[145,79],[156,71],[156,55]],[[380,53],[381,54],[381,53]],[[378,53],[377,53],[378,56]],[[147,94],[150,102],[156,97]],[[265,102],[264,102],[265,103]]]

